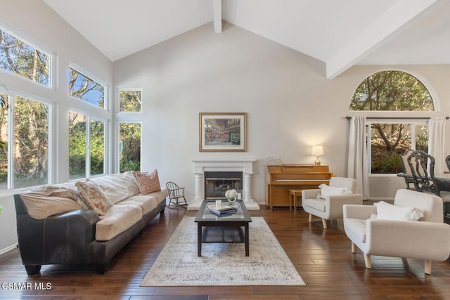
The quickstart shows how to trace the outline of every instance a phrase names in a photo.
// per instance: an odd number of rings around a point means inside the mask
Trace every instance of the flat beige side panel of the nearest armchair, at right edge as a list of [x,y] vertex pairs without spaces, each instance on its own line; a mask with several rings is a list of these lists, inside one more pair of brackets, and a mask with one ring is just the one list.
[[449,237],[446,223],[378,219],[366,223],[368,254],[444,261],[450,255]]

